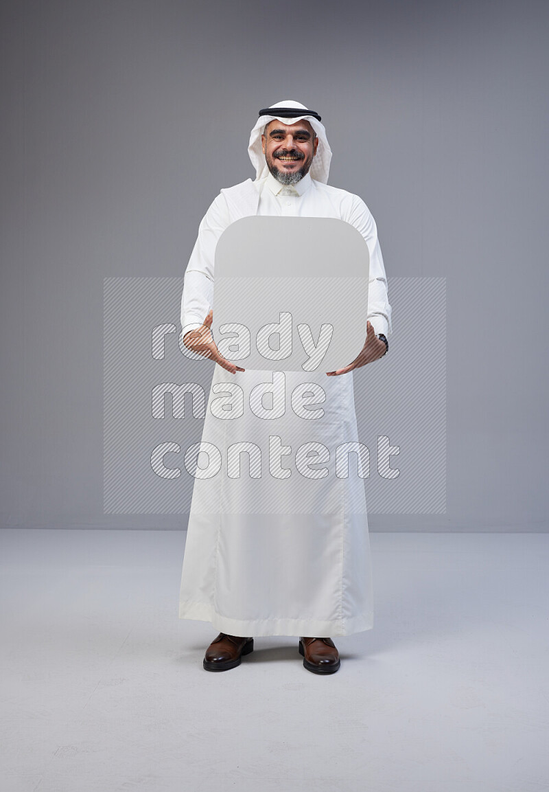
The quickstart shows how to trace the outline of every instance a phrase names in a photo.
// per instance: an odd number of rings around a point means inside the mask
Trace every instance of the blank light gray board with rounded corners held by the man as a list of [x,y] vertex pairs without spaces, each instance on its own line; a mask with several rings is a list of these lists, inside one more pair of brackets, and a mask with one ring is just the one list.
[[368,246],[350,223],[244,217],[215,251],[214,341],[242,368],[343,368],[364,346],[368,281]]

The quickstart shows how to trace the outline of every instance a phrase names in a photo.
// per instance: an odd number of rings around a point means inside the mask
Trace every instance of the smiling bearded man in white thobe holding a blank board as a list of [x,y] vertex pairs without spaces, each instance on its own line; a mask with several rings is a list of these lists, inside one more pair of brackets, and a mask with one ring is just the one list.
[[[248,152],[256,180],[221,190],[200,224],[185,272],[181,323],[187,348],[217,364],[203,431],[203,444],[210,445],[205,447],[216,447],[229,459],[235,444],[253,440],[274,448],[282,460],[290,454],[290,445],[283,443],[298,447],[301,440],[311,440],[312,425],[312,439],[328,448],[358,440],[350,372],[388,351],[391,307],[369,209],[358,196],[327,185],[331,150],[320,116],[296,101],[271,105],[259,112]],[[324,402],[320,421],[300,422],[290,409],[275,421],[259,421],[249,410],[235,421],[214,417],[218,394],[230,388],[228,379],[243,390],[245,404],[258,386],[268,387],[268,372],[244,370],[225,360],[210,332],[215,246],[230,223],[250,215],[343,219],[369,247],[369,321],[362,352],[337,371],[283,372],[288,394],[305,388]],[[283,240],[268,242],[279,245],[283,256]],[[291,468],[290,457],[284,459],[286,467],[278,462],[278,470],[270,468],[271,475],[259,479],[252,474],[250,451],[248,477],[229,474],[215,486],[195,478],[180,618],[210,621],[221,630],[206,649],[206,670],[240,664],[240,657],[252,652],[253,636],[294,635],[300,637],[305,668],[333,673],[340,660],[331,635],[373,625],[362,478],[338,478],[332,469],[329,480],[306,482]]]

